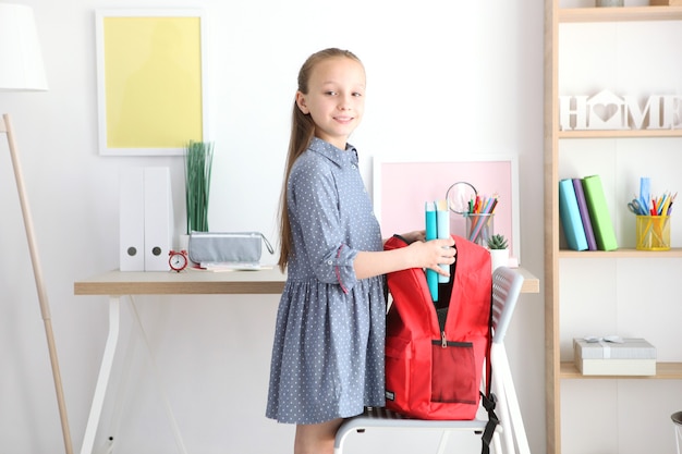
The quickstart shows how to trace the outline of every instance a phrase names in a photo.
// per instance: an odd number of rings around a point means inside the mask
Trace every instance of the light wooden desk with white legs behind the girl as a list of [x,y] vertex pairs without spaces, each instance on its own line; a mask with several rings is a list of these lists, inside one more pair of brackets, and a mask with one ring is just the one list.
[[[539,293],[539,280],[520,268],[524,277],[522,293]],[[280,294],[287,277],[279,269],[258,271],[108,271],[74,283],[75,295],[109,296],[109,335],[105,345],[95,395],[90,406],[81,454],[90,454],[109,385],[119,341],[121,297],[126,295],[265,295]],[[172,419],[172,415],[171,415]],[[174,420],[171,420],[173,422]],[[176,434],[179,438],[179,434]],[[176,440],[184,447],[182,440]]]

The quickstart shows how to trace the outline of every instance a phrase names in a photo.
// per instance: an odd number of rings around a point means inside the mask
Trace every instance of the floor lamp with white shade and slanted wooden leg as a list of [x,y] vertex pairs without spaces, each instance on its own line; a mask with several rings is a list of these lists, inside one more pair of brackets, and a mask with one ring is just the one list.
[[[1,91],[33,91],[46,90],[47,82],[42,68],[38,34],[33,17],[33,10],[25,5],[0,3],[0,90]],[[52,366],[52,377],[57,390],[57,401],[61,418],[62,433],[66,454],[72,454],[71,435],[69,431],[69,418],[66,417],[66,406],[64,393],[62,391],[59,361],[57,359],[57,348],[54,346],[54,335],[52,333],[52,321],[50,317],[50,306],[47,299],[47,292],[42,282],[42,271],[38,256],[36,240],[33,229],[33,220],[24,188],[19,151],[12,130],[12,122],[9,114],[3,114],[0,121],[0,134],[5,134],[10,147],[10,156],[14,168],[16,180],[16,191],[24,217],[24,229],[28,241],[31,261],[38,291],[40,303],[40,314],[45,324],[48,349]]]

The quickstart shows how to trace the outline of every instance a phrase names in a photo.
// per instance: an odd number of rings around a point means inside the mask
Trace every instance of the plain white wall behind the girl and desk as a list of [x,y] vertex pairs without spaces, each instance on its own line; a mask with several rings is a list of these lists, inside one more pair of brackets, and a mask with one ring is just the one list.
[[[118,268],[119,171],[170,167],[176,228],[184,222],[181,158],[98,155],[96,9],[205,9],[208,121],[217,154],[211,230],[258,230],[277,238],[296,73],[309,53],[337,46],[356,52],[368,74],[366,118],[352,139],[367,185],[372,157],[517,155],[521,255],[524,267],[541,278],[541,2],[14,1],[34,8],[50,89],[0,94],[0,111],[12,114],[16,130],[76,451],[108,314],[106,297],[76,297],[73,282]],[[0,452],[60,452],[47,345],[3,139],[0,192]],[[277,303],[277,296],[136,299],[187,452],[291,452],[293,428],[264,417]],[[175,452],[154,364],[136,331],[127,334],[134,328],[129,308],[96,445],[114,435],[117,453]],[[508,345],[537,453],[545,451],[543,319],[541,296],[524,295]],[[123,382],[122,370],[130,372]],[[430,438],[367,440],[353,452],[393,443],[391,452],[409,453],[433,443]]]

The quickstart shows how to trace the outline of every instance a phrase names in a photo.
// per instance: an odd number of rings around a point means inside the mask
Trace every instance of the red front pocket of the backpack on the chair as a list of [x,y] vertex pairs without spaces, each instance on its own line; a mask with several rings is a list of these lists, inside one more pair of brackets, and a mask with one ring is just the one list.
[[431,341],[431,402],[478,405],[472,342]]

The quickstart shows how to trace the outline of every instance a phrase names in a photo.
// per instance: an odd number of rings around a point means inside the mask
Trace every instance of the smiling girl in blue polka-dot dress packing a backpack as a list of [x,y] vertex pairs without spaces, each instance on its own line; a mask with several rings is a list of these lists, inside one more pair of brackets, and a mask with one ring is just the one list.
[[[382,274],[454,262],[454,242],[403,236],[385,251],[372,203],[346,143],[365,105],[365,70],[326,49],[299,73],[281,203],[277,316],[266,415],[296,425],[295,454],[333,452],[343,418],[383,406]],[[417,241],[419,240],[419,241]]]

